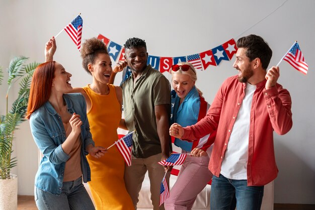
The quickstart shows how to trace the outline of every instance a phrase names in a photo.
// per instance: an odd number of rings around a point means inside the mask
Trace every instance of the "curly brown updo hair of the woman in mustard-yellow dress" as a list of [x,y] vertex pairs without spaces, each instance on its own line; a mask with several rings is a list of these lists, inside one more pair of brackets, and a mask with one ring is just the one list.
[[91,72],[89,71],[88,64],[94,63],[94,60],[96,56],[99,53],[105,53],[108,54],[107,48],[105,43],[97,39],[95,37],[91,39],[87,39],[81,47],[81,57],[82,57],[82,65],[84,69],[91,75]]

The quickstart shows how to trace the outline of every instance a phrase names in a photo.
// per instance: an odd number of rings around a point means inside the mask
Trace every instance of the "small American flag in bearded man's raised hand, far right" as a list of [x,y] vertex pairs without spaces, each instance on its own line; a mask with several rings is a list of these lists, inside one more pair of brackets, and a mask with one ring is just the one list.
[[290,63],[297,71],[306,75],[308,65],[305,62],[304,56],[297,42],[295,42],[283,59]]

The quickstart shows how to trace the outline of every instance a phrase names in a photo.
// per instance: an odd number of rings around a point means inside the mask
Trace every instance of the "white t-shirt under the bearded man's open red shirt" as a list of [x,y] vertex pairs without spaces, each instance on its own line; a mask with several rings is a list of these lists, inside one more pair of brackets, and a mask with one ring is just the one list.
[[250,115],[255,85],[246,84],[245,97],[232,127],[221,165],[221,174],[228,179],[247,179]]

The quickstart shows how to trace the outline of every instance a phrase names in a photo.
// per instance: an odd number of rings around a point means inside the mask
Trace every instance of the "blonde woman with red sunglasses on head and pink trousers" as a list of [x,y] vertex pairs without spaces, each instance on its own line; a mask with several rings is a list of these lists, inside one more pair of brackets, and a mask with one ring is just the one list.
[[[205,116],[207,109],[207,102],[195,86],[196,70],[191,63],[180,62],[172,66],[170,73],[172,86],[176,92],[176,96],[172,97],[174,108],[171,122],[183,127],[193,125]],[[207,154],[206,151],[213,143],[214,136],[215,133],[194,142],[175,138],[174,144],[182,149],[182,153],[192,155],[185,159],[170,197],[164,203],[166,210],[191,209],[198,193],[210,181],[212,177],[208,170],[210,152]]]

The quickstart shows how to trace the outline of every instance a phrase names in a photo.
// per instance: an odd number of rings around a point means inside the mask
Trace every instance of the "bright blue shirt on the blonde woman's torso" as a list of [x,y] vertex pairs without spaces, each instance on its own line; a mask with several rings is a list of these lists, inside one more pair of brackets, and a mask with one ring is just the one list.
[[[179,102],[180,98],[177,95],[172,98],[172,124],[176,122],[183,127],[196,124],[200,109],[200,98],[196,87],[189,91],[181,105]],[[174,144],[187,152],[193,149],[192,142],[182,141],[179,138],[175,138]]]

